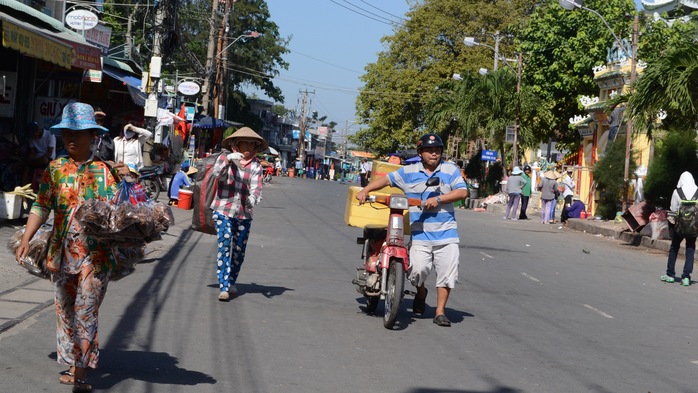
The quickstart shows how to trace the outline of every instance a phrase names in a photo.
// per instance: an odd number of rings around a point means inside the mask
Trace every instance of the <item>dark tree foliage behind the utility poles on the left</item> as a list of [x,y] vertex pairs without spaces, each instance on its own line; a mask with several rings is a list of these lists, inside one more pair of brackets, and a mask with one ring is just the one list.
[[[205,73],[209,71],[204,69],[209,32],[212,24],[216,27],[222,25],[223,13],[218,13],[211,20],[210,0],[160,0],[156,2],[157,7],[167,9],[167,17],[161,25],[156,25],[154,18],[157,9],[139,3],[136,0],[105,1],[104,20],[113,30],[111,46],[123,46],[126,42],[127,21],[131,16],[133,24],[130,37],[134,49],[123,54],[123,57],[131,57],[146,66],[154,50],[153,34],[158,32],[164,37],[162,57],[163,64],[168,65],[165,73],[174,73],[176,69],[182,76],[199,79],[206,77]],[[223,2],[221,11],[222,4]],[[242,34],[252,31],[260,33],[258,38],[241,39],[230,45],[218,57],[226,57],[229,68],[228,81],[225,83],[228,88],[229,101],[226,106],[229,108],[229,117],[242,116],[246,97],[239,89],[243,85],[255,86],[267,96],[283,102],[282,92],[274,85],[273,77],[279,74],[280,69],[288,68],[283,55],[288,52],[286,46],[290,39],[280,36],[266,1],[235,2],[229,21],[225,33],[228,43]]]

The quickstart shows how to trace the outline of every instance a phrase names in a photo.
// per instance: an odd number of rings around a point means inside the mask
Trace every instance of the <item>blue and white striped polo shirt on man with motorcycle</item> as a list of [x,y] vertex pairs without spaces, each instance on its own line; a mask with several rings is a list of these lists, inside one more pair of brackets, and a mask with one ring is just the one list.
[[[427,179],[436,176],[439,186],[426,187]],[[451,190],[467,188],[460,174],[460,168],[455,164],[441,162],[436,170],[428,175],[421,162],[407,165],[395,172],[389,173],[388,178],[393,187],[400,188],[409,198],[426,200],[431,197],[445,195]],[[452,203],[441,204],[432,209],[421,210],[410,207],[410,227],[412,242],[433,246],[458,243],[458,226]]]

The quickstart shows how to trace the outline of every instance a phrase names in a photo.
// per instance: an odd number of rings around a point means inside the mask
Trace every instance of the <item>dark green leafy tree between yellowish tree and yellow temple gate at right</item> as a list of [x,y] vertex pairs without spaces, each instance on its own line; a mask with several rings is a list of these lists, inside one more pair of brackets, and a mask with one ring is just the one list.
[[[635,12],[632,0],[588,0],[584,5],[602,15],[618,37],[630,37],[632,20],[625,15]],[[557,0],[546,1],[519,26],[516,39],[526,64],[523,79],[547,109],[536,119],[536,139],[575,143],[578,135],[567,119],[580,113],[580,95],[598,95],[592,68],[606,63],[607,48],[615,39],[597,15],[566,11]]]

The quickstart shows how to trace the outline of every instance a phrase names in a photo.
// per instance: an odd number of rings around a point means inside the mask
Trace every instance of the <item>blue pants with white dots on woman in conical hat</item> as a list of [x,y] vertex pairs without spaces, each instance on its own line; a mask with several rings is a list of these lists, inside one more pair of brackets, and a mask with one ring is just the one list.
[[247,238],[250,236],[251,219],[230,218],[213,213],[218,233],[218,255],[216,256],[216,274],[221,292],[228,292],[235,285],[240,274],[240,267],[245,260]]

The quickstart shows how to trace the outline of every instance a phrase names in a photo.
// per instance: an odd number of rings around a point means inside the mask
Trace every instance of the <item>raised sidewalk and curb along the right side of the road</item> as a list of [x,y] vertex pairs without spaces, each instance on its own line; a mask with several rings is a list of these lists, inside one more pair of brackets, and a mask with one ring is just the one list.
[[[490,204],[487,206],[487,213],[493,213],[497,216],[504,216],[505,210],[506,205],[502,204]],[[529,218],[536,219],[540,217],[539,209],[529,207],[528,211]],[[556,213],[556,219],[559,222],[560,210],[558,209]],[[557,225],[560,226],[559,224]],[[619,240],[628,245],[654,249],[666,253],[669,252],[669,247],[671,246],[670,239],[652,240],[649,236],[643,236],[638,232],[631,232],[630,228],[625,222],[618,224],[609,220],[596,220],[593,217],[584,220],[579,218],[570,218],[565,229],[589,233],[592,235],[601,235]],[[679,249],[679,255],[685,255],[685,247],[681,247]]]

